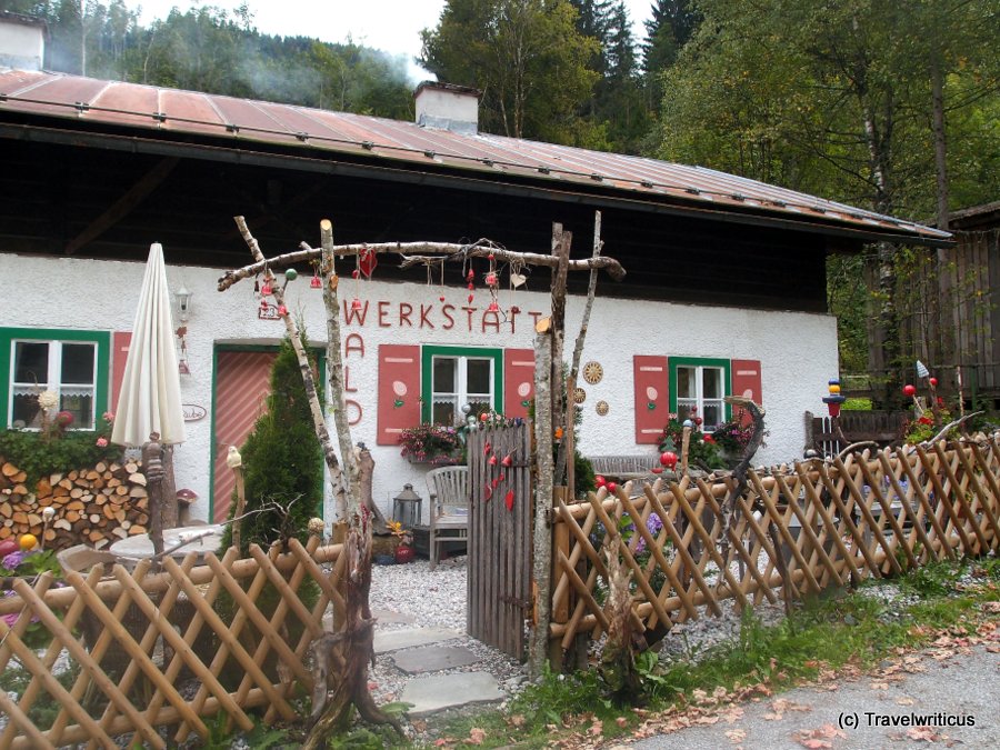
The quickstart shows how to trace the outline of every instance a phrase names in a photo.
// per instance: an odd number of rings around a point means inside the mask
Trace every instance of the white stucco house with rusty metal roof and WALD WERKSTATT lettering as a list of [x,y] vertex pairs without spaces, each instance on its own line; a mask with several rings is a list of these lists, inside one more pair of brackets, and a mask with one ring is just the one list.
[[[161,242],[171,289],[191,293],[178,323],[189,419],[178,486],[209,520],[228,512],[222,457],[259,413],[284,332],[261,314],[252,281],[217,290],[252,260],[233,216],[268,256],[319,244],[329,218],[337,243],[489,238],[543,253],[560,222],[580,258],[600,210],[604,253],[628,274],[599,284],[581,450],[651,458],[668,413],[697,406],[707,422],[723,419],[729,393],[767,407],[761,461],[799,456],[803,412],[821,408],[838,372],[827,256],[879,240],[949,242],[712,170],[480,133],[476,94],[458,87],[422,84],[414,122],[18,68],[0,69],[0,429],[30,411],[28,373],[60,391],[78,426],[113,410],[144,259]],[[491,312],[481,286],[469,300],[461,269],[442,282],[380,256],[370,280],[354,280],[354,261],[341,262],[347,408],[354,439],[372,449],[374,499],[391,511],[404,483],[424,493],[427,467],[397,440],[430,421],[433,403],[488,399],[527,413],[549,278],[534,271],[513,288],[514,269],[500,269]],[[298,270],[289,308],[323,347],[321,293],[312,270]],[[481,278],[486,261],[473,270]],[[584,288],[571,279],[570,336]]]

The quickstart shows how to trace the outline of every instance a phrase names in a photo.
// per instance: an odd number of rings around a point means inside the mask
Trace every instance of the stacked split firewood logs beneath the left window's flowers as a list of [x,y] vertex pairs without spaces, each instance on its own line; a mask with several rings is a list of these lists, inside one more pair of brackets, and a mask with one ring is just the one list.
[[[147,533],[146,474],[139,461],[102,461],[91,469],[53,473],[32,490],[27,474],[0,458],[0,540],[32,533],[47,549],[97,549]],[[47,524],[44,509],[54,513]]]

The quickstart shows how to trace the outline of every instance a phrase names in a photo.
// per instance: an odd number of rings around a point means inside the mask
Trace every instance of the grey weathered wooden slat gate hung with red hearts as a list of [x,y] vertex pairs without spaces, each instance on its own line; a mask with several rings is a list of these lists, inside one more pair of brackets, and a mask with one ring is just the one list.
[[533,519],[528,424],[472,432],[468,449],[468,632],[522,659]]

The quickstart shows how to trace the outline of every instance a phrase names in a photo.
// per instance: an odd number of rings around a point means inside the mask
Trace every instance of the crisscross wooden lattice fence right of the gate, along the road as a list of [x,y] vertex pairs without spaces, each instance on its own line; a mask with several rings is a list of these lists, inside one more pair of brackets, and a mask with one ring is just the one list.
[[574,504],[557,498],[556,651],[607,630],[606,553],[616,548],[632,571],[633,611],[654,629],[719,616],[727,599],[777,602],[778,592],[801,597],[1000,546],[996,437],[751,470],[730,504],[734,489],[731,477],[686,477]]

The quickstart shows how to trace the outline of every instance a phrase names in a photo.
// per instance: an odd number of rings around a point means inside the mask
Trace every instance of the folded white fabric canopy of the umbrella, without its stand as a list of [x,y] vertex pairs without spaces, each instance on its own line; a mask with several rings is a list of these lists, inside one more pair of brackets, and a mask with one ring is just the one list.
[[166,446],[184,441],[173,339],[163,247],[154,242],[149,248],[139,309],[132,324],[132,340],[111,431],[112,442],[138,448],[149,440],[151,432],[159,432],[160,442]]

